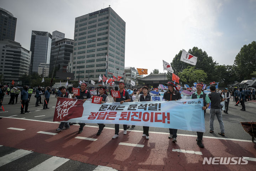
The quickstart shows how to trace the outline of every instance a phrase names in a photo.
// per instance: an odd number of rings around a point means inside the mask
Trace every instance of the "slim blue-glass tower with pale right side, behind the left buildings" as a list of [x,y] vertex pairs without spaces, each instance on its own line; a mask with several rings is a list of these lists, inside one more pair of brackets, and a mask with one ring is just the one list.
[[41,32],[32,30],[30,51],[31,67],[30,72],[38,72],[40,63],[50,63],[52,35],[49,32]]

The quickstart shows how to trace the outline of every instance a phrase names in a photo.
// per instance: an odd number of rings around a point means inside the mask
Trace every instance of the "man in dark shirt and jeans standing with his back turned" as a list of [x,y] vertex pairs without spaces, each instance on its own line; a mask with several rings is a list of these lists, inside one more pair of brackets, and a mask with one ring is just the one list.
[[220,132],[219,135],[225,136],[225,130],[224,130],[224,124],[222,121],[222,112],[221,112],[221,107],[220,107],[220,102],[224,101],[224,98],[220,93],[215,92],[216,87],[215,86],[210,86],[210,91],[211,93],[208,95],[211,101],[211,107],[210,107],[210,133],[213,133],[213,121],[214,121],[214,116],[217,116],[217,119],[219,121],[220,125]]

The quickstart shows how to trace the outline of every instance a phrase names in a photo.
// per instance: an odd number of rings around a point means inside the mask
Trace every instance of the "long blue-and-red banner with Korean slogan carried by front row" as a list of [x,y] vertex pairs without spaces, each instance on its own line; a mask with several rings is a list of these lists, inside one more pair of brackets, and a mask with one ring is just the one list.
[[203,99],[178,101],[84,103],[59,98],[53,121],[129,124],[205,132]]

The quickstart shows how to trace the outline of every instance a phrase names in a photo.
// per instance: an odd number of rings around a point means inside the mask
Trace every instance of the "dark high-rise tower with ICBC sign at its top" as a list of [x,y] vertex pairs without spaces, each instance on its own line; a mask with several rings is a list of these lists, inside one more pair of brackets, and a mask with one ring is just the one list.
[[0,40],[15,40],[16,22],[12,13],[0,8]]

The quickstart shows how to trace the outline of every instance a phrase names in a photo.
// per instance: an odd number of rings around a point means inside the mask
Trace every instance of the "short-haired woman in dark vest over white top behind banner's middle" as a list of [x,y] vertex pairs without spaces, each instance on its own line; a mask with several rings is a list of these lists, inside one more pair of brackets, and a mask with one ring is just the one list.
[[[143,94],[140,95],[140,92],[143,92]],[[137,92],[136,98],[139,99],[139,102],[152,101],[152,96],[148,95],[147,86],[140,88],[140,90]],[[149,126],[143,126],[142,136],[146,137],[146,139],[149,139]]]

